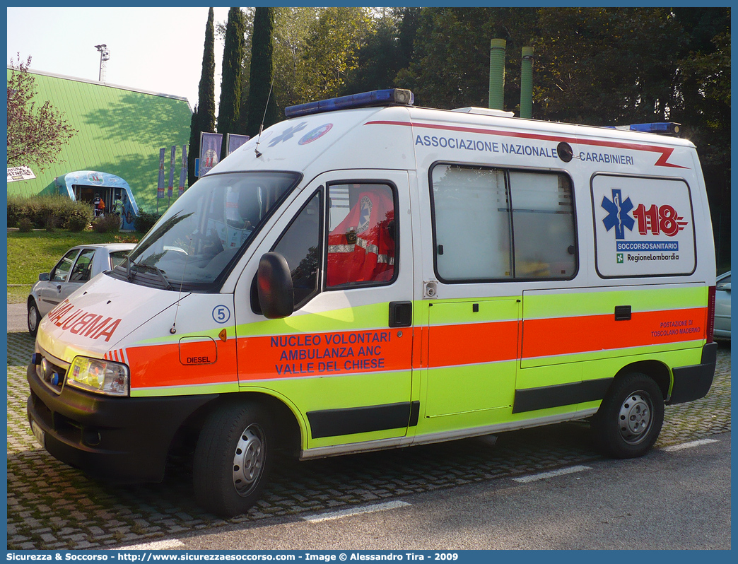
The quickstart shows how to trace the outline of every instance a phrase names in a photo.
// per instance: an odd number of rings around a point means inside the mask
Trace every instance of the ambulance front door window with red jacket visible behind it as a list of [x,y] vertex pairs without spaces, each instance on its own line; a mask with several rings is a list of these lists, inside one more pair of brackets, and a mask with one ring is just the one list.
[[397,249],[395,198],[390,185],[328,188],[329,289],[390,283],[396,273]]

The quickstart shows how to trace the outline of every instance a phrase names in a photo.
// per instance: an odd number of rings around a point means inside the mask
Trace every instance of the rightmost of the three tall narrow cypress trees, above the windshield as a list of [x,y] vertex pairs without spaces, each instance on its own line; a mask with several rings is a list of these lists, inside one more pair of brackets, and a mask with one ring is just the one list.
[[[254,13],[254,35],[251,47],[251,72],[249,74],[249,100],[247,103],[246,133],[254,137],[259,133],[261,120],[264,128],[277,123],[277,103],[275,94],[269,95],[272,87],[274,63],[274,41],[272,31],[275,25],[275,10],[258,7]],[[267,105],[267,99],[269,105]],[[264,110],[266,109],[266,116]]]

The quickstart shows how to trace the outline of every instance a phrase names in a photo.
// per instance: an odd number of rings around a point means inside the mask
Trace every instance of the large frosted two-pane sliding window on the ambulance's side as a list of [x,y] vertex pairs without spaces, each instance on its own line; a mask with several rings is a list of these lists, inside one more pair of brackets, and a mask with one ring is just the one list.
[[441,164],[430,182],[439,280],[576,274],[572,187],[565,174]]

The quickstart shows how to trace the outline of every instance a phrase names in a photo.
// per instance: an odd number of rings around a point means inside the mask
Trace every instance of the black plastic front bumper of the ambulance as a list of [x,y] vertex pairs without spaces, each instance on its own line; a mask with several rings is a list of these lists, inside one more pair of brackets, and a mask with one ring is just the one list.
[[29,422],[44,433],[44,447],[58,460],[110,481],[162,481],[175,433],[218,397],[111,397],[66,385],[57,393],[35,368],[27,368],[27,411]]

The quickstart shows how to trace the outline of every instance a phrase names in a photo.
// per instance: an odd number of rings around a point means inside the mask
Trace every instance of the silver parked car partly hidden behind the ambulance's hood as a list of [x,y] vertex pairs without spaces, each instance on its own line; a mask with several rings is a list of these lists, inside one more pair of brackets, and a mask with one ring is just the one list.
[[38,323],[72,292],[94,278],[123,263],[132,243],[79,245],[66,252],[51,269],[38,275],[28,296],[28,332],[35,337]]

